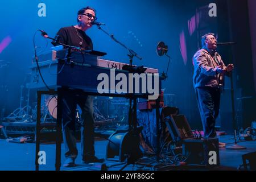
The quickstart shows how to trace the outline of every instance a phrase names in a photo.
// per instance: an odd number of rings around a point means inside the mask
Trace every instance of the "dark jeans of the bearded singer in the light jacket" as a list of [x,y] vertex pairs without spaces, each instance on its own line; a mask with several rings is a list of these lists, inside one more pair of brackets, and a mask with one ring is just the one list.
[[220,89],[207,86],[196,88],[196,98],[204,136],[214,138],[216,137],[215,121],[220,110]]

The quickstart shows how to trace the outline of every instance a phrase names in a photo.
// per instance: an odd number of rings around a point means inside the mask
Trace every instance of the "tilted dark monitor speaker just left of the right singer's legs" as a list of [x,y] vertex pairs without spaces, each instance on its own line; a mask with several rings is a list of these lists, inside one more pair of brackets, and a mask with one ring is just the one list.
[[185,115],[169,115],[164,118],[164,122],[168,127],[172,140],[177,142],[194,137]]

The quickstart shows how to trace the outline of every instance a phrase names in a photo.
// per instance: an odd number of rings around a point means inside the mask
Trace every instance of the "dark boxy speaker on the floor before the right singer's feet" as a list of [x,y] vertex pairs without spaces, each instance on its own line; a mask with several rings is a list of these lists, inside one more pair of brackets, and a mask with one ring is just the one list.
[[184,139],[182,152],[188,164],[220,166],[218,138]]

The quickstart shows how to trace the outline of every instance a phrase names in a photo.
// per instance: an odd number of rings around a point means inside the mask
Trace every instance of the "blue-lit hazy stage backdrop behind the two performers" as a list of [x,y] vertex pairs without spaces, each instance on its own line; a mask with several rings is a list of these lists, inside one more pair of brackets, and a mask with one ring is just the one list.
[[[38,16],[38,4],[46,4],[46,17]],[[209,3],[216,3],[217,17],[210,17]],[[5,115],[19,107],[20,86],[26,86],[30,77],[33,56],[32,37],[37,29],[55,36],[60,27],[76,24],[76,13],[81,7],[92,6],[97,10],[98,20],[106,23],[115,38],[134,49],[143,61],[134,59],[134,64],[158,68],[166,71],[167,57],[156,55],[156,44],[165,42],[171,64],[168,79],[163,83],[166,94],[174,94],[174,106],[185,114],[193,129],[201,129],[201,121],[192,85],[193,54],[200,47],[200,37],[214,32],[220,42],[233,41],[232,47],[221,47],[219,52],[226,64],[234,63],[234,85],[236,111],[241,111],[242,125],[249,125],[255,119],[255,89],[247,1],[9,1],[0,6],[0,60],[7,61],[9,67],[0,68],[2,85],[1,107],[5,105]],[[255,6],[255,3],[254,3]],[[254,7],[255,10],[255,7]],[[94,49],[107,52],[105,59],[128,63],[127,51],[114,43],[103,32],[93,27],[88,31]],[[47,50],[51,44],[40,34],[36,35],[36,46]],[[23,90],[26,94],[26,87]],[[238,108],[237,98],[243,99]],[[22,105],[26,105],[26,98]],[[5,104],[4,104],[5,103]],[[221,102],[218,125],[226,130],[231,121],[230,81],[226,79],[226,91]]]

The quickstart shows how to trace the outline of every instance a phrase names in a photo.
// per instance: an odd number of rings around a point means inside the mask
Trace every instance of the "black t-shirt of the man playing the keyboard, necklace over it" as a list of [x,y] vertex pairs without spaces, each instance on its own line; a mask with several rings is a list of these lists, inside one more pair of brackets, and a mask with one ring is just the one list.
[[[74,26],[63,27],[57,32],[56,38],[59,36],[59,42],[69,45],[93,50],[92,40],[84,31],[77,29]],[[81,43],[81,44],[80,44]],[[52,42],[53,46],[58,44]]]

